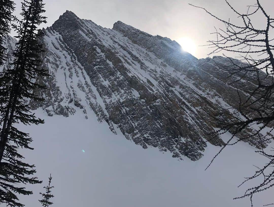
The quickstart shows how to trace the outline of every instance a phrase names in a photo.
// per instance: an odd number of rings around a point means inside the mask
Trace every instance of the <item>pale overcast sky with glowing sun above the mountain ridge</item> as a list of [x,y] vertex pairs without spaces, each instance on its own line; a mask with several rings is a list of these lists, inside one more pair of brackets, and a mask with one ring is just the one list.
[[[19,0],[15,0],[20,5]],[[51,26],[66,10],[74,12],[81,19],[90,19],[98,25],[112,28],[117,21],[122,21],[152,35],[160,35],[177,41],[185,50],[197,58],[206,58],[212,49],[207,41],[215,40],[214,27],[224,28],[224,24],[214,19],[205,11],[190,6],[204,7],[216,16],[235,23],[241,21],[226,4],[225,0],[46,0],[45,16]],[[264,8],[273,12],[273,0],[261,0]],[[240,13],[246,13],[247,5],[254,5],[256,0],[229,0]],[[271,11],[271,12],[270,12]],[[15,14],[20,12],[17,6]],[[254,19],[255,25],[264,28],[264,18]],[[14,32],[11,33],[15,35]],[[222,55],[219,53],[217,55]],[[225,54],[233,56],[234,54]],[[237,55],[235,55],[237,56]]]

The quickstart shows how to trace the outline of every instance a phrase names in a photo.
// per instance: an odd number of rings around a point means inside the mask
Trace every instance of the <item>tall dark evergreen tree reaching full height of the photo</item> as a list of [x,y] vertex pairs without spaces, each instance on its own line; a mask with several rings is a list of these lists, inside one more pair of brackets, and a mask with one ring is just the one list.
[[12,24],[18,34],[15,59],[12,67],[0,74],[0,204],[7,206],[24,206],[16,194],[32,194],[18,184],[41,183],[37,177],[32,177],[35,166],[22,162],[24,157],[18,153],[19,147],[33,149],[29,146],[32,138],[19,131],[15,124],[44,123],[30,112],[27,101],[41,100],[33,89],[43,86],[35,80],[37,76],[47,75],[41,68],[40,39],[44,34],[37,28],[46,18],[41,15],[45,12],[42,0],[24,0],[21,8],[22,20],[15,18],[17,24]]

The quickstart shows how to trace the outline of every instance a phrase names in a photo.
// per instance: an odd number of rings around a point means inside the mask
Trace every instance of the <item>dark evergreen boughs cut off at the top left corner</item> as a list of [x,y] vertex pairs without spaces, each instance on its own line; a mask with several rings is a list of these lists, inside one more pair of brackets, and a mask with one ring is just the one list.
[[14,11],[14,2],[10,0],[0,0],[0,66],[5,61],[5,50],[2,46],[4,38],[10,32],[10,22],[12,21],[12,12]]

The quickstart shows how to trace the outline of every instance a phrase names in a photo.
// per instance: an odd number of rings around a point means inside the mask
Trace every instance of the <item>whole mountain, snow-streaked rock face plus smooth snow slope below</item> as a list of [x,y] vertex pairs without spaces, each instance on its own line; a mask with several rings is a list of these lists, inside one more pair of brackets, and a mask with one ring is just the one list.
[[[66,11],[43,31],[42,67],[50,76],[37,80],[47,86],[35,91],[45,101],[29,106],[45,124],[18,127],[33,137],[35,149],[22,154],[36,176],[45,183],[52,174],[54,205],[250,206],[232,199],[258,184],[237,188],[253,165],[266,162],[254,153],[258,137],[228,146],[204,169],[231,137],[212,139],[218,123],[211,116],[230,119],[221,108],[237,110],[236,88],[256,85],[255,74],[233,83],[243,74],[227,77],[230,59],[197,59],[176,41],[121,21],[106,29]],[[0,70],[10,67],[16,42],[5,39],[8,60]],[[44,183],[27,186],[34,195],[20,201],[38,206]],[[273,203],[272,194],[254,197],[254,206]]]

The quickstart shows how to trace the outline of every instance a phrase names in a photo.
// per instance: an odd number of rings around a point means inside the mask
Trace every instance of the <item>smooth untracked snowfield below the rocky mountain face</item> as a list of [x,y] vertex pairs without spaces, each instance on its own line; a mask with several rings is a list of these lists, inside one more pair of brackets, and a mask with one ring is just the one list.
[[[178,161],[156,148],[142,149],[114,135],[96,116],[70,117],[36,111],[45,118],[39,126],[20,126],[33,137],[33,151],[23,150],[28,163],[36,165],[43,184],[28,186],[33,195],[20,197],[27,207],[40,206],[39,192],[52,174],[52,199],[56,207],[231,207],[250,206],[249,199],[232,200],[254,184],[237,188],[245,176],[265,158],[255,148],[239,143],[227,148],[204,171],[220,149],[209,144],[198,161]],[[83,152],[84,150],[85,152]],[[254,206],[273,203],[274,189],[254,197]]]

